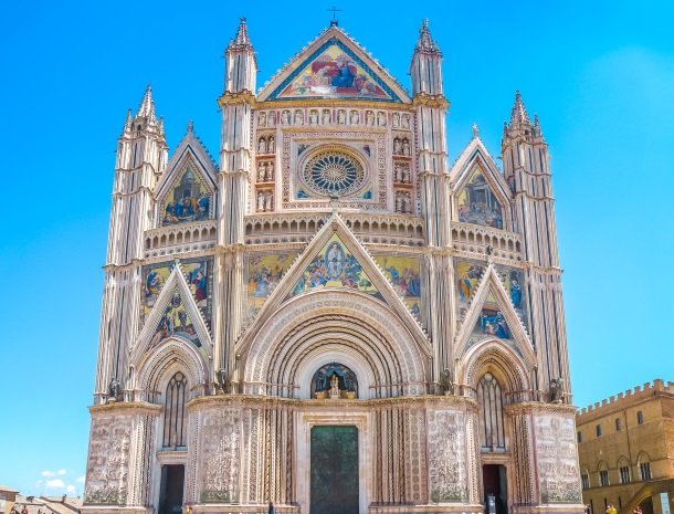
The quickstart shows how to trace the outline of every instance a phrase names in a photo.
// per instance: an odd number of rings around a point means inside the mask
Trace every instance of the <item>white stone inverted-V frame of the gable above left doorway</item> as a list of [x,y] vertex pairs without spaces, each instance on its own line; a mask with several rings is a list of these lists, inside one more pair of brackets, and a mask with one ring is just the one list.
[[[180,263],[177,262],[169,277],[164,284],[164,287],[161,289],[161,292],[157,297],[157,302],[150,311],[145,322],[145,325],[143,326],[143,329],[140,331],[140,334],[138,335],[134,346],[131,347],[131,364],[139,363],[143,356],[148,353],[151,347],[160,343],[160,334],[158,333],[158,327],[167,312],[167,308],[170,305],[175,305],[176,295],[178,295],[180,303],[185,306],[185,312],[189,316],[189,319],[191,321],[194,327],[196,336],[198,338],[200,347],[207,355],[213,355],[213,344],[211,340],[210,332],[190,292],[189,285],[182,273]],[[177,338],[183,340],[186,344],[190,345],[196,350],[199,350],[199,345],[196,345],[194,342],[187,340],[181,337]]]

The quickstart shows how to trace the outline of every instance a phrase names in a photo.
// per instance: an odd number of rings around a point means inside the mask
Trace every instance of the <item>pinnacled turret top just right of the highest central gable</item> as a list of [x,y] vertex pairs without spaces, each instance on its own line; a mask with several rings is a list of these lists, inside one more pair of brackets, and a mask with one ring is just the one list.
[[412,75],[412,94],[442,95],[442,53],[431,36],[429,20],[423,20],[419,29],[419,39],[414,46],[410,74]]

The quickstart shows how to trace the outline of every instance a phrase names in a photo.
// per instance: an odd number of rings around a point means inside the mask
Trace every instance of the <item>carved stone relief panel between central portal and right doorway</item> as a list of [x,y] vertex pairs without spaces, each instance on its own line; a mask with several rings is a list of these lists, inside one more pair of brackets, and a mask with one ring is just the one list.
[[429,481],[431,502],[466,500],[464,413],[429,412]]

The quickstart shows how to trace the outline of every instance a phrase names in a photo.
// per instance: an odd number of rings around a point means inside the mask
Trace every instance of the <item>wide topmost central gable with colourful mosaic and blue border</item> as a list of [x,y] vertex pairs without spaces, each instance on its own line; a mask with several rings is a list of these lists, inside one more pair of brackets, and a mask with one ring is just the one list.
[[336,27],[326,30],[285,66],[257,98],[411,102],[396,80]]

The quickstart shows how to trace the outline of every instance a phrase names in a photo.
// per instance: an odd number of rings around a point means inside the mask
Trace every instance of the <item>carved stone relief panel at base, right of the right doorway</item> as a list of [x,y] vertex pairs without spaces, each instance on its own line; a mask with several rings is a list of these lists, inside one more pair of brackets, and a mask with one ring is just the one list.
[[535,417],[541,503],[580,503],[580,473],[572,418]]

